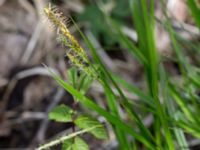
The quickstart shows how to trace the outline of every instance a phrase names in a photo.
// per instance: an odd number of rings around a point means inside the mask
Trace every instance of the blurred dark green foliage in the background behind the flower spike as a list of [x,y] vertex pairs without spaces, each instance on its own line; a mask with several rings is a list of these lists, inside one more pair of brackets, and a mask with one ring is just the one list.
[[[106,4],[105,4],[106,5]],[[108,4],[109,5],[109,4]],[[114,7],[110,12],[110,16],[118,23],[124,24],[124,19],[130,15],[128,1],[117,0],[114,2]],[[105,21],[104,14],[96,4],[87,4],[82,14],[78,15],[78,21],[87,22],[92,33],[99,39],[105,46],[112,46],[117,43],[117,39]],[[109,29],[109,30],[108,30]]]

